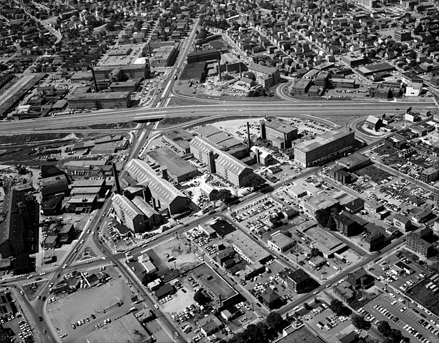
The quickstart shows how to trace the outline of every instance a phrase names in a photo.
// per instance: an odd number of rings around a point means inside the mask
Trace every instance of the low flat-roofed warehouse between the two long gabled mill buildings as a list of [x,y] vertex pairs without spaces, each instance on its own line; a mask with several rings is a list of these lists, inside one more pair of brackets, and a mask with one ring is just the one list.
[[166,167],[169,178],[178,183],[200,174],[191,163],[178,156],[169,147],[160,147],[148,152],[147,159],[156,165]]

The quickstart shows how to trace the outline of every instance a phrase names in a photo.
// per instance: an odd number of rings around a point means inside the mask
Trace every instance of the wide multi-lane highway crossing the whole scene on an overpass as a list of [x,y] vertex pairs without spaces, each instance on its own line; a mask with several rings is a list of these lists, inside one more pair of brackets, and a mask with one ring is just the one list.
[[233,117],[281,115],[294,117],[311,115],[314,117],[367,117],[368,115],[382,115],[386,112],[405,112],[412,106],[413,110],[434,110],[434,104],[394,102],[241,102],[178,106],[169,108],[127,108],[122,110],[98,110],[93,113],[45,117],[22,121],[2,121],[1,132],[8,134],[23,134],[38,130],[56,130],[87,126],[101,123],[118,123],[124,121],[145,121],[167,117],[211,117],[215,115],[230,115]]

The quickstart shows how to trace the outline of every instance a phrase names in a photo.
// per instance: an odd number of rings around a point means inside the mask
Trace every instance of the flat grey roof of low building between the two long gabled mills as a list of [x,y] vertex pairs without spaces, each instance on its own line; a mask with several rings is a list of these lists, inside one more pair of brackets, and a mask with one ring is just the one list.
[[191,163],[178,156],[178,154],[169,149],[169,147],[160,147],[156,150],[152,150],[147,153],[147,156],[158,165],[167,167],[169,174],[176,177],[185,176],[197,170]]

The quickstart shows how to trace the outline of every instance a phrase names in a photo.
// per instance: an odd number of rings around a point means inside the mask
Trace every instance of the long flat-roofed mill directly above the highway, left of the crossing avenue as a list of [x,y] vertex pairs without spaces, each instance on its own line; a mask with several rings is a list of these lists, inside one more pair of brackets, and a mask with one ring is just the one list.
[[128,108],[130,92],[88,93],[89,87],[78,87],[67,96],[69,108],[84,110],[92,108]]

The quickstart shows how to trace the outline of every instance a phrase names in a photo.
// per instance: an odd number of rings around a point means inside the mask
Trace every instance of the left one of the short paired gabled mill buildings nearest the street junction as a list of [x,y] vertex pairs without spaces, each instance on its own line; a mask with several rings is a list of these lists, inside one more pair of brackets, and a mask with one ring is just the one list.
[[111,198],[112,206],[122,224],[132,230],[133,233],[145,231],[145,215],[126,196],[115,194]]

